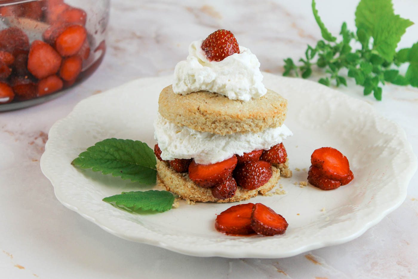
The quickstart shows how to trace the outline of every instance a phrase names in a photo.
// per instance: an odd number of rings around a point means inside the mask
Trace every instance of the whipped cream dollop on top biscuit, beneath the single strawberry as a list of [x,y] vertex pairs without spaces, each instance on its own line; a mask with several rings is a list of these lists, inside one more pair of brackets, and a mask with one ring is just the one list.
[[227,96],[231,100],[249,101],[266,92],[260,62],[250,49],[240,46],[222,61],[209,61],[201,49],[203,40],[189,46],[189,56],[174,69],[173,91],[187,95],[206,90]]

